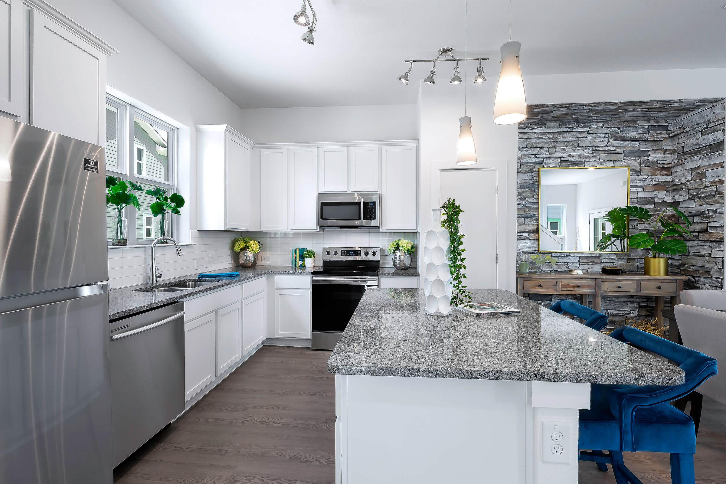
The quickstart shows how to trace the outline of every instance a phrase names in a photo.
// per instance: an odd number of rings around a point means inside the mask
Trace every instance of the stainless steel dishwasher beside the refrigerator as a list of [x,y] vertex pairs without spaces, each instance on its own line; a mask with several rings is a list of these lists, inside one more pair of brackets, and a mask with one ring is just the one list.
[[184,303],[111,322],[114,467],[184,411]]

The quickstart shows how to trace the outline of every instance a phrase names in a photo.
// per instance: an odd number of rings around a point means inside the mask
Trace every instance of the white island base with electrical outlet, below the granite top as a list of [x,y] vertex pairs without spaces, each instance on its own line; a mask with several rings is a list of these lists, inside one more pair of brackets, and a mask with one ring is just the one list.
[[335,482],[574,484],[589,408],[588,383],[336,374]]

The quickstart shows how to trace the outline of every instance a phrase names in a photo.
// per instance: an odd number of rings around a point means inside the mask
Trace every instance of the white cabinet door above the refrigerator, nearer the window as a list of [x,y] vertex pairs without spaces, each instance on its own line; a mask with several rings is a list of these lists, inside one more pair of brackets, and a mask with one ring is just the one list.
[[103,146],[105,54],[39,12],[32,22],[30,123]]

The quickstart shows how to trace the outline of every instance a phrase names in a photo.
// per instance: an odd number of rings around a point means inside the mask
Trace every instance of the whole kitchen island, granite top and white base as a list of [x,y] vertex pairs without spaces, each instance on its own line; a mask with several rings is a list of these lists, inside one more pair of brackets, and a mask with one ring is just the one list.
[[366,292],[328,361],[338,484],[576,483],[591,384],[683,382],[667,361],[512,292],[473,300],[521,312],[428,316],[423,290]]

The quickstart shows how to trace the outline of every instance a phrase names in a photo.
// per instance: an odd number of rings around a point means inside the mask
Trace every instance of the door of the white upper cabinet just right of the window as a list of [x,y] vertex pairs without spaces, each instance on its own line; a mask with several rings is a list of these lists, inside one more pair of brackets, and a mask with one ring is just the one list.
[[250,147],[227,134],[227,229],[250,229]]

